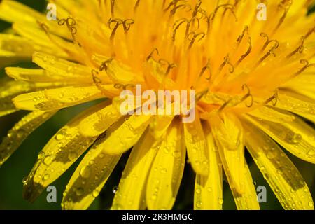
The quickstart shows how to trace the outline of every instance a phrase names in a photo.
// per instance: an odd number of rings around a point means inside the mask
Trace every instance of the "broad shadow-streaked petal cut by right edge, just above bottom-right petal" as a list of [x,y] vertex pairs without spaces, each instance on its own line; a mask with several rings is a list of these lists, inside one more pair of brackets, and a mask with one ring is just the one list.
[[246,118],[293,155],[315,163],[315,130],[300,118],[290,123],[273,123],[251,116]]

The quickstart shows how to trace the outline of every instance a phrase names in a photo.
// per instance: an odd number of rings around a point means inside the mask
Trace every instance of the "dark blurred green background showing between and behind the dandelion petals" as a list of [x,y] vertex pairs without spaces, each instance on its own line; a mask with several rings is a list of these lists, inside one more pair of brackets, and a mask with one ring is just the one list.
[[[45,10],[44,0],[20,0],[36,10]],[[126,0],[127,1],[127,0]],[[313,10],[314,11],[314,8]],[[10,24],[6,22],[0,22],[0,30],[3,31],[10,27]],[[34,67],[31,63],[19,63],[12,66],[21,67]],[[0,78],[5,76],[3,69],[0,71]],[[57,115],[48,120],[44,125],[38,128],[31,136],[20,146],[9,160],[0,168],[0,209],[61,209],[60,203],[62,201],[62,193],[68,183],[71,174],[74,172],[78,162],[76,162],[66,173],[52,185],[57,187],[57,203],[48,203],[46,201],[47,193],[44,191],[41,197],[34,203],[29,203],[22,199],[22,179],[27,176],[36,161],[37,154],[41,151],[41,148],[45,146],[45,143],[61,128],[65,125],[73,116],[83,111],[93,103],[83,104],[80,106],[73,106],[70,109],[59,111]],[[18,112],[0,118],[0,139],[6,135],[6,132],[18,122],[25,112]],[[0,140],[1,141],[1,140]],[[307,185],[311,190],[311,194],[315,199],[315,165],[311,165],[308,162],[304,162],[288,153],[288,156],[300,170]],[[113,188],[118,186],[121,172],[125,166],[128,153],[120,160],[118,166],[114,170],[111,178],[106,183],[106,186],[102,190],[102,193],[91,205],[90,209],[109,209],[111,206],[111,200],[113,199]],[[251,169],[253,181],[257,186],[266,186],[267,188],[267,203],[260,203],[261,209],[282,209],[281,204],[276,200],[276,197],[272,190],[269,188],[262,174],[255,166],[250,156],[246,155],[248,164]],[[193,185],[195,176],[189,165],[186,166],[183,181],[181,183],[181,189],[176,200],[174,209],[193,209]],[[224,181],[224,193],[223,193],[223,209],[236,209],[235,202],[232,197],[228,183]]]

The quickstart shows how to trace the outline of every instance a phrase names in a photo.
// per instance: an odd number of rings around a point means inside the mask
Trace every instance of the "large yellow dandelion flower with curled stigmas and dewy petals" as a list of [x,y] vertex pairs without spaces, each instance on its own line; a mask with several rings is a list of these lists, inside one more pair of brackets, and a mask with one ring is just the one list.
[[[315,15],[307,15],[314,1],[50,3],[57,20],[17,1],[0,4],[0,18],[13,23],[0,34],[1,64],[32,59],[39,66],[7,67],[15,80],[1,80],[0,116],[31,112],[3,139],[0,165],[60,109],[107,100],[50,139],[23,181],[27,200],[87,151],[62,201],[63,209],[87,209],[132,148],[112,209],[172,209],[186,158],[196,174],[195,209],[222,209],[223,173],[237,209],[260,209],[246,147],[284,209],[314,209],[280,147],[315,162],[315,131],[302,120],[315,122]],[[258,3],[267,20],[258,20]],[[136,85],[195,90],[195,120],[124,116],[120,93]]]

